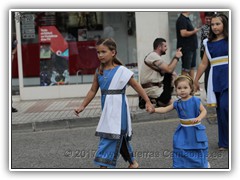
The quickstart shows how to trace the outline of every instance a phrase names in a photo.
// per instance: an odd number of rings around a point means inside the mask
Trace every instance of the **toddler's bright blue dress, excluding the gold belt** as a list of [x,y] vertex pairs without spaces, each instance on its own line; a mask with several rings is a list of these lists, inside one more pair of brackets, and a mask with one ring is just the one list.
[[[200,99],[191,97],[174,102],[180,119],[193,119],[200,114]],[[202,124],[179,124],[173,136],[173,168],[208,168],[208,139]]]

